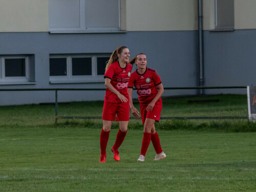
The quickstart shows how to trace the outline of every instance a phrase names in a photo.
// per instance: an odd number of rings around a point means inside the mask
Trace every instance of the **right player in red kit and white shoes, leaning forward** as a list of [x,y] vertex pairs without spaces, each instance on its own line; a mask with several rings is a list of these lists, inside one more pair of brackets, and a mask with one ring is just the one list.
[[160,160],[166,157],[164,154],[158,134],[155,129],[155,121],[159,122],[162,110],[163,85],[158,73],[155,70],[146,67],[146,55],[140,53],[129,61],[132,65],[135,62],[138,69],[134,71],[129,79],[128,93],[130,97],[130,108],[134,117],[139,117],[138,110],[133,105],[132,94],[133,87],[137,89],[140,103],[140,113],[142,123],[144,124],[144,133],[140,157],[138,161],[144,161],[148,145],[152,141],[156,151],[154,160]]

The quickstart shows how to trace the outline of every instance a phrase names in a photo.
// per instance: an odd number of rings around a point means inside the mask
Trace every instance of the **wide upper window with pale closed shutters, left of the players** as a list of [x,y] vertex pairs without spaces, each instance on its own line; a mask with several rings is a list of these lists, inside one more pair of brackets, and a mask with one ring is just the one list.
[[120,30],[120,0],[49,0],[50,32]]

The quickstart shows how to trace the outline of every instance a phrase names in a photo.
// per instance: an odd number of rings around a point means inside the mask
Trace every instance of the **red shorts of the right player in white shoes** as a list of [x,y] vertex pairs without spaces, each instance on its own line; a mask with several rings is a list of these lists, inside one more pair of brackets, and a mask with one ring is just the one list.
[[146,118],[155,119],[157,122],[159,122],[162,110],[162,102],[156,102],[152,111],[146,111],[146,107],[147,105],[140,105],[140,115],[142,124],[145,123]]

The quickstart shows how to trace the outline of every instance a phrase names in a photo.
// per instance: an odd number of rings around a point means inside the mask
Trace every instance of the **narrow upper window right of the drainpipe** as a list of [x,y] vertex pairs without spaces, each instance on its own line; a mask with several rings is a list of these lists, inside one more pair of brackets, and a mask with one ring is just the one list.
[[215,0],[215,29],[234,29],[234,0]]

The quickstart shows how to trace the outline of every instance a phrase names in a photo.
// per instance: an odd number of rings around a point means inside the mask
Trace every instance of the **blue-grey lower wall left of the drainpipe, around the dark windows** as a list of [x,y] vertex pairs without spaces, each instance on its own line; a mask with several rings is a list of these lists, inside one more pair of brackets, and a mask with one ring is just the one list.
[[[148,67],[158,71],[164,87],[195,87],[197,86],[196,37],[196,31],[127,32],[121,34],[0,33],[1,55],[34,55],[36,81],[36,84],[2,84],[1,88],[105,88],[104,79],[102,79],[102,83],[50,84],[49,55],[112,53],[120,45],[129,47],[131,58],[140,52],[145,53]],[[164,95],[195,93],[193,90],[166,90]],[[53,92],[1,92],[0,105],[53,102],[54,98]],[[104,91],[80,91],[76,94],[65,92],[63,96],[59,96],[59,101],[103,100],[103,98]]]

